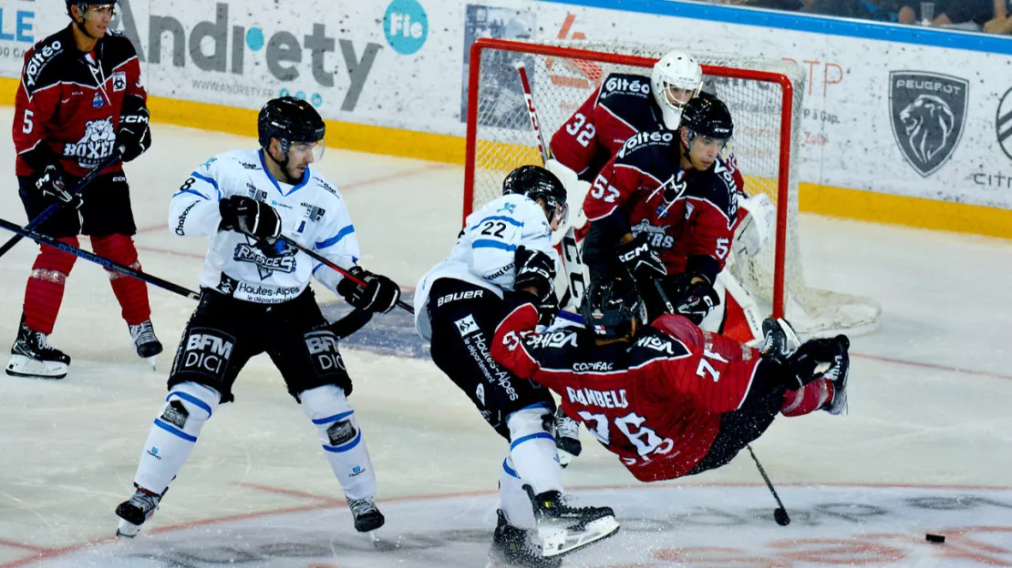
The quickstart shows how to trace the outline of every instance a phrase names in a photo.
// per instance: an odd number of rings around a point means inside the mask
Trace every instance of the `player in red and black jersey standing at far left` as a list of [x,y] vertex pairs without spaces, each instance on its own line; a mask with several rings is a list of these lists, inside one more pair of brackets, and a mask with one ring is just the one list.
[[[14,106],[18,194],[29,219],[55,203],[62,208],[40,232],[78,246],[91,236],[95,253],[140,268],[132,235],[137,232],[122,165],[107,168],[83,191],[68,189],[124,148],[130,162],[151,145],[147,94],[130,40],[108,29],[114,2],[67,0],[70,25],[35,43],[24,55]],[[24,294],[24,312],[11,348],[9,375],[59,379],[70,357],[51,347],[64,285],[76,257],[41,247]],[[151,324],[144,282],[109,272],[139,356],[152,363],[162,351]]]

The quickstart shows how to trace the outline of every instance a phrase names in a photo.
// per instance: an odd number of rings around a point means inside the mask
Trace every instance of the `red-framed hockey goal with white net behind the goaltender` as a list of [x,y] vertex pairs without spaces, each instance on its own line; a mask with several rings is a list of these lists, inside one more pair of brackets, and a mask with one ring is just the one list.
[[[502,194],[510,170],[541,162],[516,63],[527,69],[547,143],[609,74],[649,77],[667,51],[663,45],[595,41],[476,40],[469,54],[465,217]],[[792,161],[799,143],[804,70],[776,60],[693,56],[703,67],[703,89],[731,109],[735,136],[728,151],[745,176],[745,191],[765,193],[776,207],[774,234],[755,258],[733,259],[732,272],[762,309],[785,314],[800,334],[871,328],[880,311],[872,299],[805,285]]]

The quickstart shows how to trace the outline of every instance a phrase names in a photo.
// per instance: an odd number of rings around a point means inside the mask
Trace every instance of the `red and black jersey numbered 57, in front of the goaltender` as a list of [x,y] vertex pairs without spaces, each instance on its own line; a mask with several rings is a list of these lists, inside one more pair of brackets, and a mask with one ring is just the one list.
[[712,258],[712,281],[724,270],[738,220],[734,171],[721,161],[703,172],[680,164],[677,132],[635,134],[594,179],[583,209],[592,223],[620,211],[635,236],[647,234],[670,274],[685,272],[692,257]]

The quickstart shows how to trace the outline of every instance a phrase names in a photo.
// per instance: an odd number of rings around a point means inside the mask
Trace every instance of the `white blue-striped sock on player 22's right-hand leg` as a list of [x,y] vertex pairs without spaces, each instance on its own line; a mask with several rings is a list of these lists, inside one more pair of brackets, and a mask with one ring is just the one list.
[[563,469],[552,436],[555,415],[544,404],[532,404],[506,417],[509,455],[516,473],[534,494],[563,491]]

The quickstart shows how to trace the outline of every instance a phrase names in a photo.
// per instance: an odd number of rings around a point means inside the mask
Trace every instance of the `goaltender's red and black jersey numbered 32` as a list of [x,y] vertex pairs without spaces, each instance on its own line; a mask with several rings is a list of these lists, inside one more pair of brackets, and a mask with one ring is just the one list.
[[[573,116],[553,134],[552,156],[591,181],[618,149],[637,132],[665,128],[664,114],[650,92],[650,77],[608,75]],[[735,177],[739,191],[745,179],[734,164],[734,155],[718,159]]]

